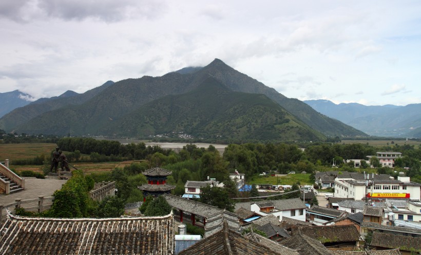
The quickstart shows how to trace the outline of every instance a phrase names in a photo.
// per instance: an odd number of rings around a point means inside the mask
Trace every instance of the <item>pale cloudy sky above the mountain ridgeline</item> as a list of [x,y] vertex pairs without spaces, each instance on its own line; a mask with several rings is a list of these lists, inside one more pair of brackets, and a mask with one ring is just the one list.
[[0,93],[83,93],[215,58],[300,100],[421,103],[421,2],[0,1]]

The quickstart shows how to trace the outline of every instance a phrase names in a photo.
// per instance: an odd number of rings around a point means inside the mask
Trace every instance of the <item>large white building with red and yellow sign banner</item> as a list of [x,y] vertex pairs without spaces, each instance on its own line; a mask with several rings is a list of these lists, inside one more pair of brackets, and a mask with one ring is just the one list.
[[[374,175],[376,176],[376,175]],[[335,197],[354,198],[362,200],[366,197],[366,181],[350,178],[335,179]],[[421,198],[421,184],[410,181],[409,177],[398,176],[394,179],[370,179],[368,181],[367,193],[374,200],[384,200],[385,198],[411,198],[419,200]]]

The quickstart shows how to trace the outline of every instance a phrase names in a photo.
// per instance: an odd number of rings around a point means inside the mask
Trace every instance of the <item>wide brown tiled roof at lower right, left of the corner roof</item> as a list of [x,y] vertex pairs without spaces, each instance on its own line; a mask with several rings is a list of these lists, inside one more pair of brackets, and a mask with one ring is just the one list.
[[301,233],[325,243],[357,242],[360,235],[354,225],[295,226],[292,234]]

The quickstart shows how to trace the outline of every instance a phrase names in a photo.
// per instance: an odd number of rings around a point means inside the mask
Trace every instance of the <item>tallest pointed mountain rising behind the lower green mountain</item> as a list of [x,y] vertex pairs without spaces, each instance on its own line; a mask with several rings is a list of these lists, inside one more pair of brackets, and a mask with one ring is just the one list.
[[[183,69],[182,69],[183,70]],[[233,92],[263,94],[272,99],[296,120],[326,136],[356,137],[367,136],[338,120],[317,113],[308,104],[297,99],[289,99],[275,89],[241,74],[221,60],[215,59],[202,68],[184,69],[169,72],[161,77],[144,76],[116,82],[89,100],[75,105],[62,105],[62,108],[39,114],[25,122],[10,125],[16,132],[72,135],[109,134],[107,127],[115,127],[128,113],[139,110],[152,101],[166,96],[180,96],[192,92],[209,76]],[[162,105],[164,107],[164,105]],[[140,111],[140,110],[139,110]],[[16,116],[16,115],[14,115]],[[3,118],[0,119],[0,128]],[[4,124],[4,123],[3,123]],[[9,129],[10,129],[9,126]],[[116,134],[119,131],[114,131]]]

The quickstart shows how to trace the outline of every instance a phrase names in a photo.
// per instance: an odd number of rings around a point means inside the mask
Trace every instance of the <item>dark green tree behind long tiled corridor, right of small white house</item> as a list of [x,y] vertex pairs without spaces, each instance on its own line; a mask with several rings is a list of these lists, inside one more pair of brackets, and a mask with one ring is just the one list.
[[210,185],[201,189],[199,202],[216,206],[220,209],[234,211],[234,202],[229,198],[228,191],[220,187],[210,187]]

